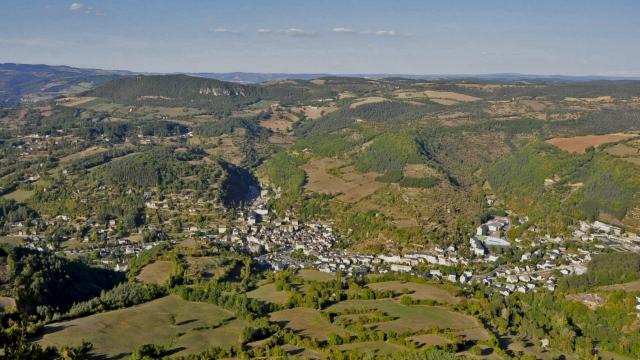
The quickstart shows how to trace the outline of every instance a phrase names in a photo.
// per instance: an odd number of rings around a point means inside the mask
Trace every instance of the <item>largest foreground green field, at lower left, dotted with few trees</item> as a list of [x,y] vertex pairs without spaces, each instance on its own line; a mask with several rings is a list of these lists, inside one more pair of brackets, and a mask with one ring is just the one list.
[[[216,327],[223,322],[224,325]],[[172,295],[127,309],[47,325],[37,341],[42,345],[79,345],[86,340],[94,345],[95,355],[110,358],[126,358],[132,350],[150,343],[186,355],[212,346],[237,344],[245,325],[244,321],[233,319],[230,311]]]

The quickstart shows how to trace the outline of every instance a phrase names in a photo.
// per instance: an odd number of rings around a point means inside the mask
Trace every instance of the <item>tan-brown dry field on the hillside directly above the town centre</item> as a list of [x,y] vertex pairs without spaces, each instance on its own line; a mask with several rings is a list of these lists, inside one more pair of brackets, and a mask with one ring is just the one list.
[[[308,178],[307,190],[338,195],[341,201],[356,203],[383,186],[375,180],[380,174],[359,173],[353,166],[346,165],[346,162],[332,158],[310,160],[303,167]],[[338,169],[338,172],[332,174],[332,169]]]

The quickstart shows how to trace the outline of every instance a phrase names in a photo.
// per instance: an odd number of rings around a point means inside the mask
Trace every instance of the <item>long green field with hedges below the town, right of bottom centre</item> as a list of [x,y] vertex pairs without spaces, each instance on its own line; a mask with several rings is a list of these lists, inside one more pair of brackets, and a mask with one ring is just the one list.
[[439,306],[401,305],[393,300],[347,300],[329,307],[329,311],[340,313],[347,308],[378,309],[395,320],[373,324],[379,330],[396,332],[432,329],[470,329],[480,325],[467,315],[456,313]]

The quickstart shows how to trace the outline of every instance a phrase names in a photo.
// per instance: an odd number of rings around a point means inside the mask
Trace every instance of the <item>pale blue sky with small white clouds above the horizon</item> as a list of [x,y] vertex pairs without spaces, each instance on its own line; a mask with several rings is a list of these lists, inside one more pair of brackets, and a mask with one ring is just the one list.
[[0,0],[0,62],[637,76],[639,59],[637,0]]

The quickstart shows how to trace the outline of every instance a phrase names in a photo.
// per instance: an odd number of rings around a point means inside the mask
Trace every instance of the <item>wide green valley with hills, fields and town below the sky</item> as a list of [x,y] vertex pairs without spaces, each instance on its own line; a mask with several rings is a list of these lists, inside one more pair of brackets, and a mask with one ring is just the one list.
[[3,107],[5,329],[113,359],[635,358],[638,91],[123,74]]

